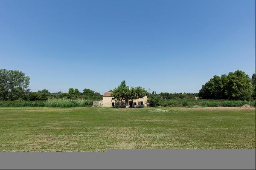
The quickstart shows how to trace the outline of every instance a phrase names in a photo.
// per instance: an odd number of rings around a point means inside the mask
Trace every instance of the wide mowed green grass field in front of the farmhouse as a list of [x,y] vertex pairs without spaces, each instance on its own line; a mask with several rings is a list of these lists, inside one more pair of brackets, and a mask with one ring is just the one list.
[[0,151],[108,149],[255,149],[255,108],[0,108]]

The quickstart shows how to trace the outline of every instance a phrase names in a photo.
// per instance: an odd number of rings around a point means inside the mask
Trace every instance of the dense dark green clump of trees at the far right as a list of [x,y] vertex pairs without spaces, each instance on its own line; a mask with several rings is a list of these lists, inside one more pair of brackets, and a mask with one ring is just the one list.
[[198,93],[202,99],[255,99],[255,74],[252,78],[243,71],[237,70],[221,77],[213,76]]

